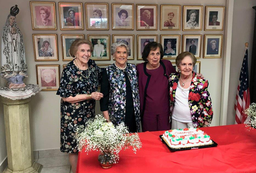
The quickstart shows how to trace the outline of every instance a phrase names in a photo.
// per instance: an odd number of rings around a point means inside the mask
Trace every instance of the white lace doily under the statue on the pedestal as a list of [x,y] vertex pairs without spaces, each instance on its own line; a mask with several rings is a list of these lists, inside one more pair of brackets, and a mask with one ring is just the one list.
[[0,96],[12,100],[26,99],[32,95],[36,95],[36,93],[41,90],[38,85],[33,84],[26,84],[24,88],[7,88],[6,86],[0,86]]

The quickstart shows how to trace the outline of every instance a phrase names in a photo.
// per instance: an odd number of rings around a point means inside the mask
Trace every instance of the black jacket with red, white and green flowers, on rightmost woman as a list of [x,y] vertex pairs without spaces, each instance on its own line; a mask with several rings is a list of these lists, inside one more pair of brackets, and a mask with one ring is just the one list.
[[[170,80],[170,110],[172,112],[175,104],[175,93],[179,82],[180,73],[172,73]],[[204,121],[211,123],[213,111],[210,94],[208,92],[208,81],[201,77],[197,77],[193,72],[193,77],[189,91],[189,107],[192,116],[193,126],[202,127]]]

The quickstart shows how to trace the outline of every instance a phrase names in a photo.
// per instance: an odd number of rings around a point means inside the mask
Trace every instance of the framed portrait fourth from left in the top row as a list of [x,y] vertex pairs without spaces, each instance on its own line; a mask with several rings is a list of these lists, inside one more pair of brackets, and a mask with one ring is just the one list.
[[112,3],[112,29],[133,30],[133,4]]

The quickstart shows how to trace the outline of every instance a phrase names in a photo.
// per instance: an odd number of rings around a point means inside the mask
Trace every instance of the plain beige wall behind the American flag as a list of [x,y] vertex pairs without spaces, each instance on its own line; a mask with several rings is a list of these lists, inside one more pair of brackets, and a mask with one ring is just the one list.
[[[234,124],[235,122],[235,97],[237,91],[240,70],[242,67],[245,42],[249,43],[248,48],[248,64],[249,75],[251,74],[251,58],[252,58],[252,44],[255,10],[252,8],[256,6],[255,0],[235,0],[233,12],[233,29],[232,29],[232,44],[231,44],[231,62],[230,62],[230,78],[229,78],[229,92],[228,92],[228,112],[227,124]],[[255,57],[254,57],[255,58]],[[249,76],[250,78],[250,76]]]

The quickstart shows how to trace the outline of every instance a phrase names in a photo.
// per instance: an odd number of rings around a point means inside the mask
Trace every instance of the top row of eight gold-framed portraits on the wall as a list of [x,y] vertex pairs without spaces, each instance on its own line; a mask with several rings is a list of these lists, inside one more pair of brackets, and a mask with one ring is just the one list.
[[[57,29],[55,2],[30,1],[33,29]],[[134,4],[112,3],[112,29],[133,30]],[[136,4],[136,29],[157,30],[157,4]],[[223,30],[224,6],[205,6],[204,30]],[[83,29],[83,4],[59,2],[61,30]],[[86,29],[108,30],[108,3],[85,3]],[[160,30],[181,29],[181,5],[161,5]],[[183,6],[183,30],[202,30],[203,6]]]

